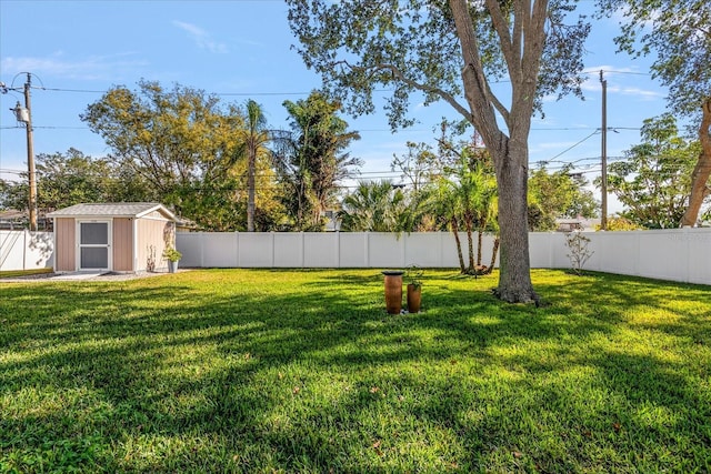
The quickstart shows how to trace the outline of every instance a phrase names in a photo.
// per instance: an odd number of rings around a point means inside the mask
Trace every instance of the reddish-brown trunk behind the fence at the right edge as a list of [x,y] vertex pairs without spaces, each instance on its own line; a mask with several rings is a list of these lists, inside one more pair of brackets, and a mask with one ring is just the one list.
[[681,218],[681,226],[694,226],[699,219],[699,212],[703,200],[711,194],[711,189],[707,185],[711,175],[711,98],[701,107],[703,117],[699,125],[699,141],[701,142],[701,154],[691,175],[691,194],[689,195],[689,206]]

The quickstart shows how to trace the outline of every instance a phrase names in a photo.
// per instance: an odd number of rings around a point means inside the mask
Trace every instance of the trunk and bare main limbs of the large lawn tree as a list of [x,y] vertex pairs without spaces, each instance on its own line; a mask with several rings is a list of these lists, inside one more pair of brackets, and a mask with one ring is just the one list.
[[[528,135],[545,44],[549,3],[548,0],[503,3],[513,7],[513,24],[507,21],[502,3],[483,0],[511,79],[510,110],[498,100],[487,82],[470,2],[449,0],[462,49],[464,97],[471,111],[464,117],[481,134],[497,169],[501,263],[495,294],[510,303],[530,303],[538,302],[538,296],[531,283],[529,259]],[[499,128],[495,112],[502,115],[510,138]]]

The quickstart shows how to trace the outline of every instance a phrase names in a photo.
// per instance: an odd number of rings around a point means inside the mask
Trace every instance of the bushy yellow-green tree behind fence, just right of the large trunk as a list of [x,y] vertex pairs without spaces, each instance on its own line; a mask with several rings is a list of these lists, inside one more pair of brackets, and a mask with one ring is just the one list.
[[529,178],[529,223],[532,231],[557,229],[555,219],[597,216],[598,203],[582,175],[571,172],[571,167],[549,172],[540,167]]

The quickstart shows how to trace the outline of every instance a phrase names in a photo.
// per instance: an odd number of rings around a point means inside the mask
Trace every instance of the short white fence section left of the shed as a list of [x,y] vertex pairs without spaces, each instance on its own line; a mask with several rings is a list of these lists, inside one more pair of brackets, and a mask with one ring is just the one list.
[[48,269],[54,264],[52,232],[0,231],[0,271]]

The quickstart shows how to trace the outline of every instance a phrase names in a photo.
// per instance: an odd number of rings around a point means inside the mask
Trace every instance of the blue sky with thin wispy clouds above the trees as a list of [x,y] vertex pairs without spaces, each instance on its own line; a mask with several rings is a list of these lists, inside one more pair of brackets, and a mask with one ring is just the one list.
[[[592,8],[583,1],[583,8]],[[585,101],[545,102],[530,135],[530,161],[573,162],[589,179],[601,154],[601,84],[608,80],[608,157],[615,160],[639,142],[647,118],[665,111],[665,93],[649,75],[648,60],[615,54],[617,20],[595,21],[585,58],[590,80]],[[272,128],[286,128],[284,100],[304,99],[320,85],[291,46],[287,6],[281,0],[247,1],[36,1],[0,0],[0,81],[22,88],[32,73],[32,120],[37,153],[66,152],[103,157],[108,148],[79,119],[89,103],[113,85],[137,88],[141,79],[221,94],[226,102],[254,99]],[[0,94],[0,178],[17,179],[27,169],[26,138],[9,109],[20,92]],[[363,178],[393,177],[393,153],[410,141],[433,142],[447,105],[412,104],[419,123],[390,132],[384,112],[344,117],[361,140],[351,153],[364,161]],[[614,211],[611,202],[611,211]]]

